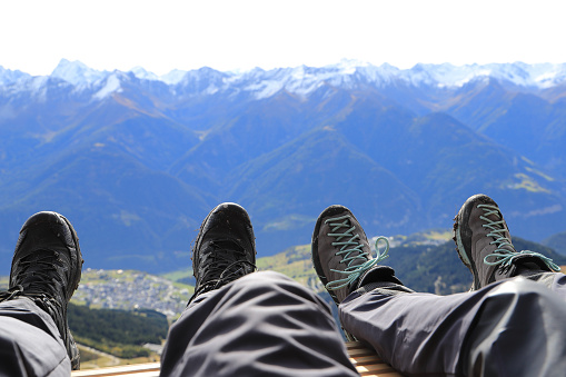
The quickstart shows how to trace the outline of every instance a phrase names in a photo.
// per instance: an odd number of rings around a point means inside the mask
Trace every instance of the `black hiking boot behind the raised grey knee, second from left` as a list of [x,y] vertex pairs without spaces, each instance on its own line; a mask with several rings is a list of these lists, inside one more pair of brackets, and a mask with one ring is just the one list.
[[256,238],[246,210],[225,202],[208,214],[192,248],[195,295],[218,289],[256,270]]

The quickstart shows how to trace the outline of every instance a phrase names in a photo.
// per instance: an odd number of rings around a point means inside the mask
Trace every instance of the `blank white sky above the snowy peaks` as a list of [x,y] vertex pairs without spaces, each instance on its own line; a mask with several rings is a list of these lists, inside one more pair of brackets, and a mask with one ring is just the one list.
[[566,1],[0,1],[0,66],[49,75],[61,59],[98,70],[271,69],[354,59],[566,62]]

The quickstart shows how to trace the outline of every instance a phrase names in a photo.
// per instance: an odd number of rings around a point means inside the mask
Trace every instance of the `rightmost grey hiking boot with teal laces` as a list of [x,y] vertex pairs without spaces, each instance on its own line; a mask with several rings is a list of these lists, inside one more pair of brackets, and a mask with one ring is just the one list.
[[454,218],[454,241],[458,256],[474,275],[471,290],[519,275],[520,270],[558,271],[552,259],[539,252],[517,251],[497,204],[475,195]]

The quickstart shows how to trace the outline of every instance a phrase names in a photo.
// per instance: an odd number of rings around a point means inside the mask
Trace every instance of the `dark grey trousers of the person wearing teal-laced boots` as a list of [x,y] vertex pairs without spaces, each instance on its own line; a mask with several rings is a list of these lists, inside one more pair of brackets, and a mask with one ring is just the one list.
[[565,282],[514,278],[450,296],[378,288],[348,296],[340,320],[409,376],[562,376]]

